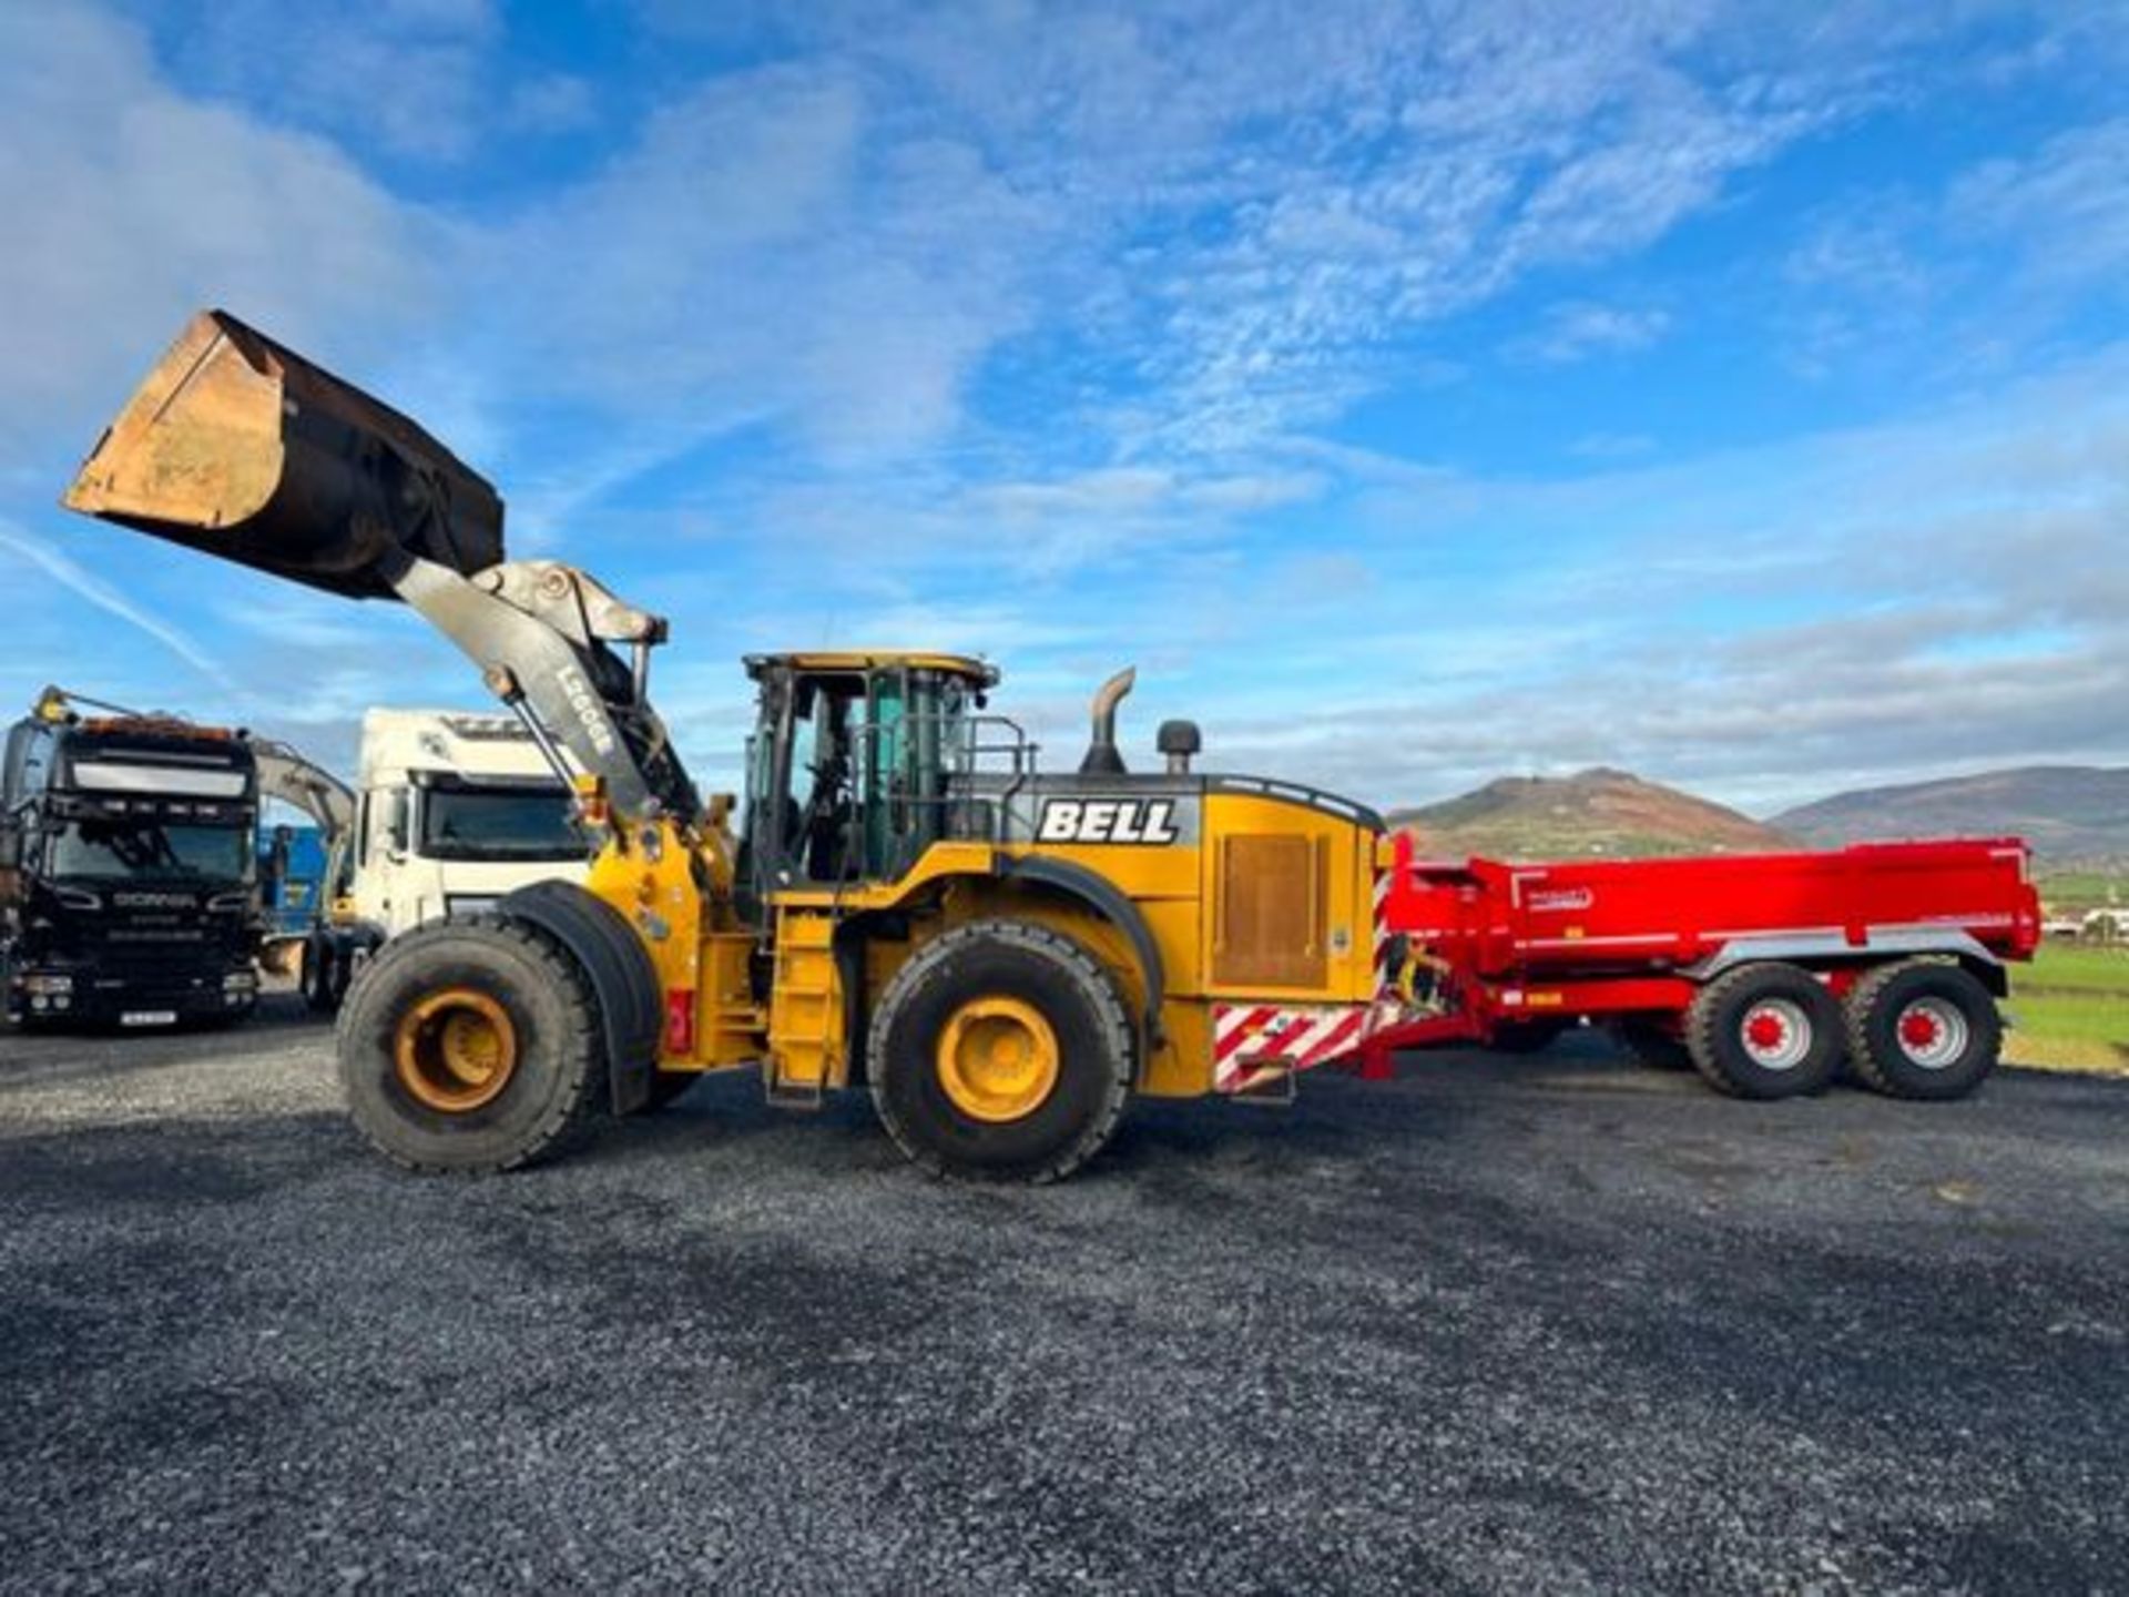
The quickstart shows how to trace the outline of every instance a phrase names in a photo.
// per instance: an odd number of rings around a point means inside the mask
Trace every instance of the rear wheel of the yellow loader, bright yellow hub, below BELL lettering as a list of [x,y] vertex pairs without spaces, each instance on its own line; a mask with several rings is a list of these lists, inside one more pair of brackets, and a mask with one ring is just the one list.
[[1116,977],[1079,943],[979,920],[920,950],[879,999],[873,1103],[935,1175],[1054,1182],[1124,1118],[1133,1031]]

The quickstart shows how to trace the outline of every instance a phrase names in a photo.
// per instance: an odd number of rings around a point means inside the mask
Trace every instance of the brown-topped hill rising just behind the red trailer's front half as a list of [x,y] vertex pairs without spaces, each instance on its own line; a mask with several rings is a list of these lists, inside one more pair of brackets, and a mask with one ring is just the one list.
[[1795,847],[1790,835],[1735,809],[1605,767],[1571,777],[1499,777],[1460,798],[1392,811],[1390,826],[1409,828],[1429,854],[1509,860]]

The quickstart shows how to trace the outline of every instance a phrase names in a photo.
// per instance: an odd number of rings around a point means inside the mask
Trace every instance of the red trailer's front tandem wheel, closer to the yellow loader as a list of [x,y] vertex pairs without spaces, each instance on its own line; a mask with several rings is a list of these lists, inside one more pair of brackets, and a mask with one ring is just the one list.
[[1795,965],[1742,965],[1703,986],[1686,1011],[1686,1052],[1739,1099],[1818,1092],[1842,1065],[1842,1007]]

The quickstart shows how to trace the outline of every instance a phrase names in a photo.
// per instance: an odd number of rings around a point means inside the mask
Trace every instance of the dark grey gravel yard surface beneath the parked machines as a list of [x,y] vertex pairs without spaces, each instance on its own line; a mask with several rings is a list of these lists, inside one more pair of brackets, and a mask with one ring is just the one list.
[[0,1037],[0,1588],[2129,1591],[2129,1084],[1573,1048],[1001,1192],[752,1080],[417,1180],[287,1011]]

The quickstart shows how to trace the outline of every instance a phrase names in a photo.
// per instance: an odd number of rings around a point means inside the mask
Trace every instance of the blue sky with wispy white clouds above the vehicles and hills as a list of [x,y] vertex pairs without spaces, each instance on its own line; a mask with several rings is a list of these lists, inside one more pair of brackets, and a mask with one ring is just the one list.
[[0,707],[343,767],[396,605],[55,507],[219,304],[739,656],[950,647],[1077,762],[1754,813],[2129,762],[2129,6],[0,4]]

